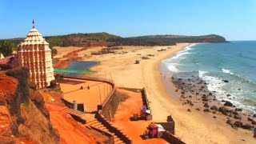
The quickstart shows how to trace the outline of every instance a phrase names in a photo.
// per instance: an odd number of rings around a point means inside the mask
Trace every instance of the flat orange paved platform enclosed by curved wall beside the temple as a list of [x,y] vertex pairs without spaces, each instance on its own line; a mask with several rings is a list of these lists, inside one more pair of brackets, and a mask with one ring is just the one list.
[[97,106],[102,104],[112,90],[112,86],[106,82],[75,78],[64,78],[60,86],[64,99],[69,102],[84,103],[86,112],[97,111]]

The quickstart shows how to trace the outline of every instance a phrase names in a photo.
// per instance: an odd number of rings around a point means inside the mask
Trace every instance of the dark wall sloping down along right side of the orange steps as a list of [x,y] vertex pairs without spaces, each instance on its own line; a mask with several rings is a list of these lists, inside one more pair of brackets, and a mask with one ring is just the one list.
[[117,127],[114,127],[111,122],[109,122],[108,120],[106,120],[106,118],[104,118],[103,115],[95,114],[95,118],[97,118],[99,122],[102,122],[102,124],[106,126],[106,128],[110,130],[111,133],[116,134],[118,138],[120,138],[123,142],[127,144],[133,143],[131,138],[129,138],[122,130],[119,130]]

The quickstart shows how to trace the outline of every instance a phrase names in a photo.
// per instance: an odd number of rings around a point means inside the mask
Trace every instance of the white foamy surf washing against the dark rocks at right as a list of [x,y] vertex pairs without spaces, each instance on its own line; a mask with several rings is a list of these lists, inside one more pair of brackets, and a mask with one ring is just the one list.
[[[236,94],[234,92],[229,93],[229,92],[226,92],[226,90],[223,90],[223,87],[226,86],[226,82],[223,82],[222,78],[207,75],[209,74],[208,71],[199,70],[198,73],[199,73],[198,76],[207,83],[207,89],[210,90],[211,92],[214,92],[214,95],[219,101],[222,101],[222,100],[230,101],[234,104],[234,106],[240,107],[244,110],[253,111],[255,109],[254,106],[248,106],[242,103],[242,101],[245,98],[241,97],[241,94]],[[227,94],[231,94],[232,98],[234,99],[227,98],[226,97]]]

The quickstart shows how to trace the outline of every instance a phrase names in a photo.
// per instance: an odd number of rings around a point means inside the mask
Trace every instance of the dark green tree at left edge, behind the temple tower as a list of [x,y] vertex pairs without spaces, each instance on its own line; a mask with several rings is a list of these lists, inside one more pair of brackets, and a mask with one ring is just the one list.
[[1,40],[0,41],[0,52],[3,56],[8,56],[13,53],[15,46],[14,42],[10,40]]

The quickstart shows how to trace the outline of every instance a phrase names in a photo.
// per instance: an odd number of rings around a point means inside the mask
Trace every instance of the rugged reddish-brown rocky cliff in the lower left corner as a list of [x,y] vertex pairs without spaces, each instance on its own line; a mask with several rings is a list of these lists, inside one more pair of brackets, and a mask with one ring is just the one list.
[[0,143],[58,143],[42,95],[30,90],[28,70],[0,72]]

